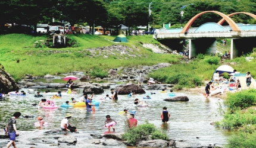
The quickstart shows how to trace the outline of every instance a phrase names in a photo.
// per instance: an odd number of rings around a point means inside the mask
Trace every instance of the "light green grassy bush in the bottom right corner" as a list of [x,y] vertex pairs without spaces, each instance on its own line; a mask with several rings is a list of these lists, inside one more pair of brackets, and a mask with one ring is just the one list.
[[256,131],[249,134],[245,132],[239,132],[227,140],[228,148],[241,148],[241,147],[256,147]]

